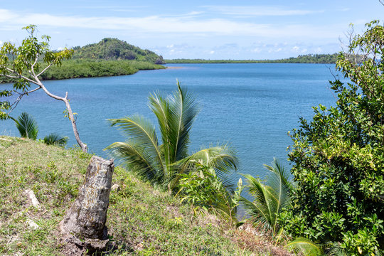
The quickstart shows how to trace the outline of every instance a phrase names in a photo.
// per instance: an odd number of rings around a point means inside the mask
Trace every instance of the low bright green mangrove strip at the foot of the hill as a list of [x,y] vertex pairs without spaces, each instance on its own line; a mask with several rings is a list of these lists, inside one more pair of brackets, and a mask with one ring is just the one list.
[[[43,65],[41,68],[44,68]],[[165,68],[146,61],[139,60],[65,60],[60,66],[52,66],[41,75],[42,80],[60,80],[68,78],[95,78],[114,75],[132,75],[139,70],[154,70]],[[0,78],[0,82],[14,80]]]

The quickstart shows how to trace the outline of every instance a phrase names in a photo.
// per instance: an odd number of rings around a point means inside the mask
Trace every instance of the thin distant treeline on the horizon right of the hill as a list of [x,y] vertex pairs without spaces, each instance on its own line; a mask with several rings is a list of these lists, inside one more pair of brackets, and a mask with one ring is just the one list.
[[173,59],[166,63],[336,63],[338,53],[334,54],[306,54],[297,58],[280,60],[204,60],[204,59]]

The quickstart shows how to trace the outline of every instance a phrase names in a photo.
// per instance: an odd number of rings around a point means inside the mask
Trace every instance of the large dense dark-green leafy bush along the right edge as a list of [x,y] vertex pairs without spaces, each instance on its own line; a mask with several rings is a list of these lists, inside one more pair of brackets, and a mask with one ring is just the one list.
[[297,193],[281,215],[292,236],[340,242],[348,255],[384,250],[384,28],[366,26],[338,55],[336,67],[351,82],[331,82],[336,106],[314,107],[291,135]]

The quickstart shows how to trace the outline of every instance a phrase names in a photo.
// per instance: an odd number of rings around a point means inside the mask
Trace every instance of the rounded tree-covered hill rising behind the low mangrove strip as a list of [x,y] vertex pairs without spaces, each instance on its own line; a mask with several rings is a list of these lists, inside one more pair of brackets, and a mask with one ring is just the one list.
[[104,38],[99,43],[73,48],[74,59],[94,60],[142,60],[154,64],[164,64],[163,57],[151,50],[143,50],[137,46],[117,38]]

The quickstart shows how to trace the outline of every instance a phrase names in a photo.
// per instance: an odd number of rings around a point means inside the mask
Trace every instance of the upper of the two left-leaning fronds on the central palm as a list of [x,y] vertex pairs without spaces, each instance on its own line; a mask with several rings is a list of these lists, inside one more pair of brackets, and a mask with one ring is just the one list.
[[[139,115],[108,120],[112,126],[119,127],[124,134],[127,134],[129,141],[132,142],[132,144],[140,145],[143,151],[154,156],[158,169],[164,169],[155,127],[149,120]],[[110,147],[108,146],[106,149],[110,149]]]

